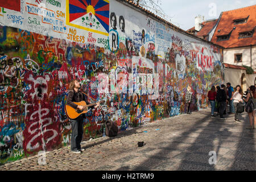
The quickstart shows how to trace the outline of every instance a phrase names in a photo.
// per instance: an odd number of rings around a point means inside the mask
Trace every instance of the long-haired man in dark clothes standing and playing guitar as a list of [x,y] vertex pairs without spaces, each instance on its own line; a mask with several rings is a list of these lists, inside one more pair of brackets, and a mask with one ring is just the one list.
[[[86,106],[77,105],[74,102],[80,102],[85,101],[86,104],[89,104],[86,99],[85,95],[80,90],[81,85],[79,80],[72,80],[69,83],[69,93],[67,98],[67,105],[73,107],[74,109],[80,109],[84,110]],[[96,109],[100,105],[99,102],[96,103],[96,106],[94,106],[94,109]],[[93,106],[90,107],[93,109]],[[84,123],[83,120],[85,118],[85,114],[79,115],[79,117],[75,119],[69,119],[71,121],[72,126],[72,134],[71,134],[71,151],[80,154],[81,151],[84,151],[83,148],[81,148],[81,141],[82,141],[82,133],[84,131]]]

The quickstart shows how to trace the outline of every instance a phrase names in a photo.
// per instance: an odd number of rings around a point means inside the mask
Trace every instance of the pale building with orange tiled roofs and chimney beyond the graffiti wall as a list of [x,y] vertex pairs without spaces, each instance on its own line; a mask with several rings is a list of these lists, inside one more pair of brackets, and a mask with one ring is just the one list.
[[[243,90],[256,84],[256,5],[224,11],[218,19],[200,23],[188,32],[224,47],[225,82],[242,85]],[[196,17],[197,19],[197,17]],[[198,21],[197,21],[198,22]],[[251,67],[247,74],[243,66]],[[238,70],[234,70],[238,69]]]

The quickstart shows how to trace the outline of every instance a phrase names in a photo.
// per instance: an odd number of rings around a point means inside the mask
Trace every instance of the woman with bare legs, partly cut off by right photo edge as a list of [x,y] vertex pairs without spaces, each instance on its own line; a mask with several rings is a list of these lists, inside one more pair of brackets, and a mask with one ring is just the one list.
[[254,85],[251,85],[249,87],[250,89],[250,92],[247,93],[247,96],[246,98],[243,98],[243,100],[245,100],[245,102],[248,102],[249,99],[251,98],[253,100],[253,106],[251,108],[251,112],[248,113],[248,116],[249,116],[249,120],[250,120],[250,126],[251,127],[247,127],[246,129],[250,129],[250,130],[254,130],[255,129],[255,124],[256,124],[256,117],[255,117],[255,100],[256,100],[256,93],[255,93],[255,86]]

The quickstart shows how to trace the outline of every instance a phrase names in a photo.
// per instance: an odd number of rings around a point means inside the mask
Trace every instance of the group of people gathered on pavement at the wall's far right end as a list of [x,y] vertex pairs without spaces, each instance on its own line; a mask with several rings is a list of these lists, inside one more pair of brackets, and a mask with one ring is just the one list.
[[[256,84],[255,84],[256,85]],[[237,112],[239,103],[247,104],[251,98],[256,101],[255,85],[251,85],[243,94],[243,90],[240,85],[236,88],[231,86],[230,82],[222,84],[221,86],[212,86],[207,94],[207,100],[211,106],[211,117],[214,118],[214,112],[216,111],[220,115],[220,119],[226,119],[223,115],[226,114],[226,108],[229,106],[229,114],[234,114],[234,121],[241,122],[241,113]],[[255,110],[254,108],[248,113],[250,119],[250,127],[247,129],[254,129],[256,125]]]

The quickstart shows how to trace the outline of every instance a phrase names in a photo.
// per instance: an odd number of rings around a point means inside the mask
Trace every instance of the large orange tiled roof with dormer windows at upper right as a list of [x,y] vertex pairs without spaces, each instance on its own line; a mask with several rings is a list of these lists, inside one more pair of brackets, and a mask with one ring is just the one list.
[[[249,18],[247,19],[246,23],[242,24],[234,24],[233,20],[242,19],[242,18]],[[245,31],[252,31],[256,26],[256,5],[243,7],[241,9],[224,11],[220,18],[220,22],[217,25],[217,28],[214,32],[213,38],[211,42],[214,44],[218,44],[225,48],[231,47],[242,47],[242,46],[250,46],[250,44],[256,44],[256,31],[254,32],[251,38],[240,38],[238,39],[238,35],[240,32]],[[233,27],[236,27],[232,34],[230,35],[229,40],[218,41],[218,35],[225,35],[229,34]],[[218,32],[220,30],[220,32]]]

